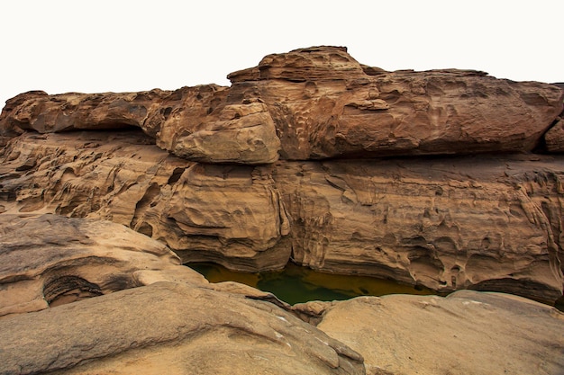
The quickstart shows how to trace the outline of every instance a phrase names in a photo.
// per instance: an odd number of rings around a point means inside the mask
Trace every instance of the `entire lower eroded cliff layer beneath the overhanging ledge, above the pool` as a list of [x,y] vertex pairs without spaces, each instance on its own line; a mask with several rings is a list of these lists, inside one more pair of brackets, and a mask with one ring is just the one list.
[[209,165],[148,139],[25,133],[0,156],[0,204],[113,220],[184,263],[255,272],[291,257],[441,292],[562,295],[559,156]]

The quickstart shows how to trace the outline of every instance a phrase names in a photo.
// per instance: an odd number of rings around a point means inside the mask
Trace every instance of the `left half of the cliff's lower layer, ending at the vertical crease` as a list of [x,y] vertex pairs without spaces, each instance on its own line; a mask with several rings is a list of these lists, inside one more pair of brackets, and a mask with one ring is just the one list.
[[25,133],[0,155],[0,211],[108,219],[183,260],[282,268],[290,248],[271,166],[169,156],[141,131]]

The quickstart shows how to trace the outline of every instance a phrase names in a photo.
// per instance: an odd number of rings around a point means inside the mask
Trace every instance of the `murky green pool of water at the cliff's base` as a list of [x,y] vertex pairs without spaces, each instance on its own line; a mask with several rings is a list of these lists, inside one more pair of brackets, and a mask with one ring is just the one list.
[[368,276],[315,272],[294,263],[288,263],[282,271],[260,273],[233,272],[214,263],[186,265],[202,273],[210,282],[238,281],[259,290],[269,291],[290,305],[310,300],[350,299],[397,293],[436,294],[432,290]]

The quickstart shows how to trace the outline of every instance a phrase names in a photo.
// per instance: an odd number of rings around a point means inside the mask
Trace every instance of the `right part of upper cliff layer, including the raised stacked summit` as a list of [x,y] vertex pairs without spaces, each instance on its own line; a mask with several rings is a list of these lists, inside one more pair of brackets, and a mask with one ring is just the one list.
[[232,97],[267,104],[287,159],[529,151],[564,98],[477,71],[363,68],[335,47],[268,55],[228,77]]

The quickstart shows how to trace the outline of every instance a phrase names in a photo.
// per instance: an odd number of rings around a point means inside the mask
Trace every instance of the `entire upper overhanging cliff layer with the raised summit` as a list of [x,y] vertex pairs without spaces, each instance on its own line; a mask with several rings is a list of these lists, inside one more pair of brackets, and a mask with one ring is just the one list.
[[343,47],[268,55],[232,87],[174,92],[22,94],[0,135],[135,126],[189,160],[260,165],[286,159],[530,151],[562,112],[556,85],[471,70],[385,72]]

